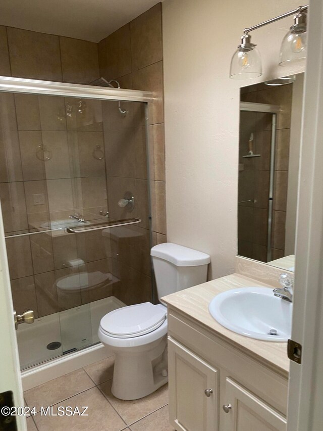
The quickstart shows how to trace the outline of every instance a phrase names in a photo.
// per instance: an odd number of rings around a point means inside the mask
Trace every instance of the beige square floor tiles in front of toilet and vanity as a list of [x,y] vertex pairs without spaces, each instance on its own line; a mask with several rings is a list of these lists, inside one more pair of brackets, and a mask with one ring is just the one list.
[[174,431],[168,420],[168,386],[135,401],[111,393],[114,359],[88,365],[25,391],[26,404],[40,407],[88,406],[88,416],[44,416],[27,419],[28,431]]

